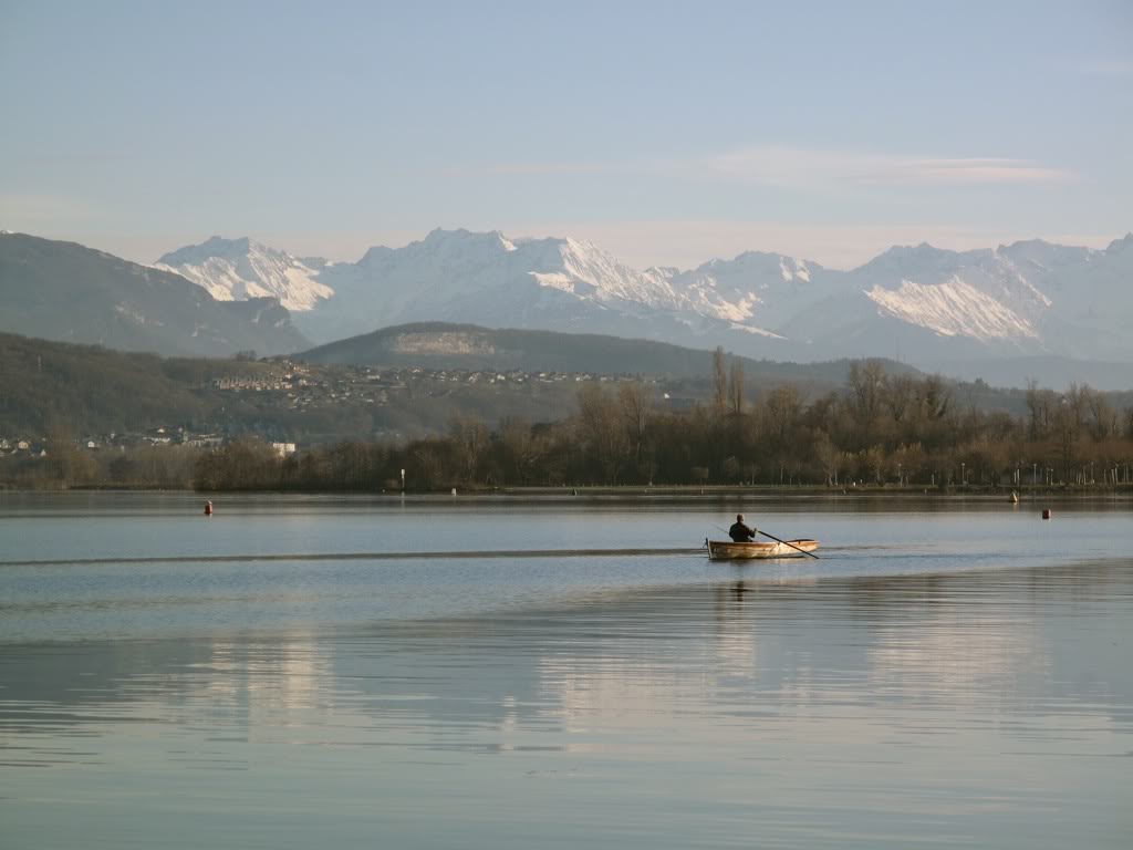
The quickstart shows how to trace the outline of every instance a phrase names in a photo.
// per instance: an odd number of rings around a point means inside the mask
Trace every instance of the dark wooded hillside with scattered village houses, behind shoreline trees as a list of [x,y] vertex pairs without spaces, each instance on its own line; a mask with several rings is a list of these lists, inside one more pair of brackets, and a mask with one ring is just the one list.
[[[449,333],[460,326],[441,328]],[[469,333],[467,329],[455,332]],[[429,334],[435,339],[434,332]],[[704,351],[603,337],[527,331],[491,334],[495,342],[508,341],[508,350],[520,354],[529,349],[519,343],[536,348],[544,337],[550,343],[564,346],[580,341],[595,348],[606,345],[602,357],[607,368],[623,376],[644,373],[663,402],[662,409],[707,403],[713,396],[712,356]],[[611,351],[619,343],[625,343],[625,354],[613,357]],[[580,350],[585,348],[579,345]],[[656,355],[655,368],[649,368],[650,360],[642,351]],[[608,383],[597,369],[566,372],[545,366],[547,371],[539,374],[537,367],[510,371],[494,362],[491,369],[477,372],[476,364],[484,360],[475,357],[463,369],[441,368],[440,363],[451,363],[443,359],[445,356],[400,351],[393,365],[381,368],[286,358],[162,358],[0,334],[0,439],[52,432],[75,436],[128,433],[161,426],[225,434],[250,431],[306,442],[420,435],[444,432],[454,414],[479,417],[493,427],[506,417],[563,419],[577,410],[580,388]],[[431,360],[433,357],[440,363]],[[785,383],[794,385],[803,399],[849,391],[849,362],[795,365],[735,358],[734,363],[743,366],[744,405],[752,409]],[[665,372],[673,376],[666,377]],[[893,369],[889,374],[901,373]],[[1028,414],[1023,390],[997,390],[983,382],[945,383],[957,410],[1004,411],[1013,417]],[[1107,398],[1117,410],[1133,406],[1133,393],[1108,393]]]

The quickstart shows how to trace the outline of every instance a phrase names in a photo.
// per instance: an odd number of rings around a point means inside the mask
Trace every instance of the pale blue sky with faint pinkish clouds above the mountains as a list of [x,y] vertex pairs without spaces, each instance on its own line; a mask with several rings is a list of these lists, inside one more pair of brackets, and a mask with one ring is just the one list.
[[1133,230],[1133,2],[0,0],[0,228],[631,265]]

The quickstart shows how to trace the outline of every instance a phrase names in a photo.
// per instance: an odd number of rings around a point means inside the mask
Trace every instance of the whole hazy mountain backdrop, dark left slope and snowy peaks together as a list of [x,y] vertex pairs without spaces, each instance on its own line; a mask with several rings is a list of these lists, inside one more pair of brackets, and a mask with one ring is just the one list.
[[1093,380],[1097,367],[1107,377],[1096,382],[1115,385],[1133,364],[1133,235],[1105,249],[921,244],[841,271],[759,252],[637,270],[593,243],[467,230],[374,247],[355,263],[214,237],[147,267],[8,233],[0,295],[0,330],[162,354],[292,352],[457,322],[802,363],[888,357],[966,377],[1002,366],[1012,383],[1042,363],[1049,380]]

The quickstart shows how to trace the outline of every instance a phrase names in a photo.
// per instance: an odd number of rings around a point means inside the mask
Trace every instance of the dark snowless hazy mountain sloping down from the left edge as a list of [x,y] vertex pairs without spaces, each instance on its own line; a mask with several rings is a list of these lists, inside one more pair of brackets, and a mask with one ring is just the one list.
[[0,331],[167,355],[293,351],[274,298],[218,301],[179,274],[75,243],[0,235]]

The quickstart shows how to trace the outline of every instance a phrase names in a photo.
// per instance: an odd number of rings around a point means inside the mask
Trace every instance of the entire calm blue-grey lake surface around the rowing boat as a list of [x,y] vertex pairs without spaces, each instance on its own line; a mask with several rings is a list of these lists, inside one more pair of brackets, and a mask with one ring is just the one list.
[[6,850],[1133,843],[1127,502],[203,501],[0,494]]

